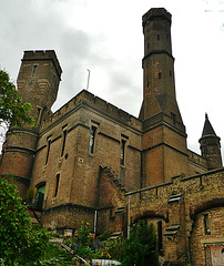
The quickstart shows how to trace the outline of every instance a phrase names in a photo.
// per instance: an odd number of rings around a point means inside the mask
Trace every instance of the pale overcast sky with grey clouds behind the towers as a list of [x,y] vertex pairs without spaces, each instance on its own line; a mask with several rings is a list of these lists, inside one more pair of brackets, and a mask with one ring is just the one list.
[[[205,112],[224,146],[224,0],[1,0],[0,66],[17,80],[26,50],[55,50],[63,70],[53,111],[86,88],[139,115],[142,16],[172,13],[176,98],[187,146],[200,153]],[[223,150],[223,149],[222,149]]]

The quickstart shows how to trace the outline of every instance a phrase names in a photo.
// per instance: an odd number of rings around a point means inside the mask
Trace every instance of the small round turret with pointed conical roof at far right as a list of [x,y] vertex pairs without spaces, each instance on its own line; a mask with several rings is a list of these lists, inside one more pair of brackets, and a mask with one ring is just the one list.
[[205,114],[202,137],[200,139],[200,149],[202,156],[207,160],[208,170],[220,168],[223,166],[220,140],[221,139],[215,134],[215,131],[210,123],[207,114]]

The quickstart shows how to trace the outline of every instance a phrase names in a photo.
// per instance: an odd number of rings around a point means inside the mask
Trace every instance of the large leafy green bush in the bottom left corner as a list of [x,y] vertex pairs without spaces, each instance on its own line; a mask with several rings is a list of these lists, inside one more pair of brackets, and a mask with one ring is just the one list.
[[49,234],[32,227],[17,186],[0,176],[0,258],[4,265],[26,265],[40,257],[48,246]]

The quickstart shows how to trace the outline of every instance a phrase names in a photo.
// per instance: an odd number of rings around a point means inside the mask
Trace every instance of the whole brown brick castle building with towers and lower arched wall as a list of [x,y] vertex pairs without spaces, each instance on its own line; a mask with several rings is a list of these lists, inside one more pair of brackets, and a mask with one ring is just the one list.
[[[26,51],[18,90],[35,126],[11,127],[1,175],[19,194],[37,190],[45,227],[72,233],[82,221],[96,235],[126,237],[138,219],[153,223],[163,265],[223,265],[223,177],[220,137],[205,115],[202,155],[187,149],[175,96],[171,14],[151,9],[144,34],[139,117],[82,90],[52,113],[61,78],[55,52]],[[170,263],[170,264],[169,264]]]

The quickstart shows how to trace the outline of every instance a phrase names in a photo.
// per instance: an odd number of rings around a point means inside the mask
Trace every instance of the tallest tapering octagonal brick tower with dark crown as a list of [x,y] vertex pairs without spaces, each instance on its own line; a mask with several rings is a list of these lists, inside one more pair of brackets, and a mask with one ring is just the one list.
[[186,133],[175,96],[171,14],[151,9],[142,18],[144,33],[143,186],[189,174]]

